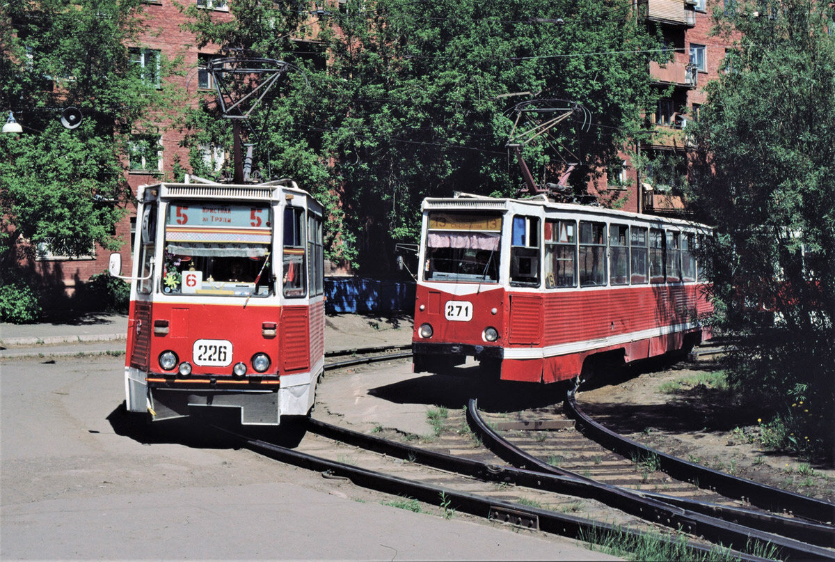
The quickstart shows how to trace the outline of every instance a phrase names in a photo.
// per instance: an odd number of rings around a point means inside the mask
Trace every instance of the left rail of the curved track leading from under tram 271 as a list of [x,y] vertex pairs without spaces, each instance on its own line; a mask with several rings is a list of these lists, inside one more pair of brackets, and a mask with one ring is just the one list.
[[[568,478],[577,478],[587,483],[596,483],[594,479],[581,476],[569,470],[544,462],[534,457],[529,452],[516,447],[513,443],[504,439],[494,432],[483,418],[478,414],[478,407],[475,400],[470,400],[467,408],[467,418],[473,430],[478,432],[485,447],[488,447],[494,454],[516,467],[529,468],[537,472],[559,475]],[[620,488],[627,493],[633,493],[641,498],[649,498],[657,502],[666,503],[678,508],[686,509],[694,513],[700,513],[713,519],[722,519],[733,524],[757,529],[768,534],[777,534],[788,539],[795,539],[808,544],[816,544],[822,547],[835,546],[835,528],[809,523],[807,521],[790,519],[774,513],[761,513],[745,508],[724,506],[716,503],[699,502],[688,498],[673,498],[661,493],[645,492]],[[835,553],[832,553],[835,556]]]

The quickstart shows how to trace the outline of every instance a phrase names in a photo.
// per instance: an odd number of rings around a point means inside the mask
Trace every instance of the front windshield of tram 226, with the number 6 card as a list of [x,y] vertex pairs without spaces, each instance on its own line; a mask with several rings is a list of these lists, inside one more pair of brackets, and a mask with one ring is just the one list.
[[271,209],[266,205],[171,203],[165,217],[165,294],[271,294]]

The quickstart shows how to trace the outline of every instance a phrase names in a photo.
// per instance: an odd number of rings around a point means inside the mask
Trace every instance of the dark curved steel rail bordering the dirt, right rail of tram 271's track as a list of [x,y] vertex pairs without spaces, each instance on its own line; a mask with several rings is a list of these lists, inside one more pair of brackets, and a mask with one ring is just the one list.
[[696,483],[701,488],[711,488],[728,498],[741,498],[769,511],[787,511],[822,524],[835,521],[835,503],[721,473],[622,437],[587,416],[577,404],[574,391],[566,394],[564,408],[569,416],[574,417],[577,429],[586,437],[627,457],[657,457],[660,469],[673,478]]

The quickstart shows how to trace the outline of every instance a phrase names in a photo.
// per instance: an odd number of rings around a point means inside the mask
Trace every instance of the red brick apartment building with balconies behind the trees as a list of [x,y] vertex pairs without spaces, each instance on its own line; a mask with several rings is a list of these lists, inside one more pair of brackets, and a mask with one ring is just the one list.
[[[231,18],[227,0],[190,0],[198,8],[211,10],[218,21]],[[229,0],[230,2],[234,0]],[[665,156],[676,162],[675,171],[681,179],[686,177],[687,158],[684,128],[689,120],[698,119],[699,107],[705,101],[702,87],[715,79],[720,72],[725,48],[721,38],[709,36],[711,16],[708,0],[637,0],[635,16],[645,21],[650,28],[659,28],[665,43],[674,50],[673,60],[664,65],[650,64],[650,72],[660,89],[671,89],[671,95],[660,101],[655,114],[649,116],[652,124],[652,140],[631,147],[639,155],[652,159]],[[344,0],[329,0],[334,6]],[[339,9],[338,7],[334,9]],[[197,105],[204,96],[214,97],[211,75],[205,71],[206,62],[217,53],[217,46],[208,45],[198,49],[194,35],[185,31],[183,24],[188,16],[173,0],[148,0],[144,6],[145,32],[140,44],[130,45],[131,61],[149,69],[152,75],[162,59],[181,58],[187,72],[185,75],[170,77],[170,81],[186,89],[190,103]],[[316,31],[314,18],[305,26],[308,32]],[[308,33],[308,38],[310,33]],[[174,178],[175,162],[189,166],[189,149],[180,146],[182,133],[165,127],[166,116],[159,115],[159,135],[144,135],[140,140],[157,146],[157,157],[142,156],[126,162],[125,176],[129,186],[136,192],[138,186],[159,181],[163,177]],[[201,147],[205,161],[220,165],[228,151],[211,146]],[[627,211],[665,213],[681,212],[684,207],[681,193],[671,185],[668,177],[661,177],[652,165],[636,167],[628,156],[623,156],[620,171],[610,171],[603,185],[594,186],[593,191],[603,198],[625,200],[622,207]],[[609,196],[609,197],[605,197]],[[129,213],[116,227],[116,234],[124,239],[121,249],[123,270],[129,270],[130,247],[135,232],[135,213]],[[38,273],[44,283],[72,299],[83,288],[83,284],[97,273],[107,269],[109,253],[95,248],[87,257],[67,258],[48,253],[39,253],[34,263],[27,264]]]

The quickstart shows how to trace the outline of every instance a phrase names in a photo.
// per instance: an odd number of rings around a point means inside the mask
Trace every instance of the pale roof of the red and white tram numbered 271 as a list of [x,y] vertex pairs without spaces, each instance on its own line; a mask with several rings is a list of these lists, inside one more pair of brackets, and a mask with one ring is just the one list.
[[558,203],[545,199],[544,197],[531,197],[529,199],[514,199],[511,197],[488,197],[461,193],[456,197],[426,197],[423,199],[423,211],[448,210],[448,211],[509,211],[514,207],[539,207],[547,211],[573,212],[582,215],[600,217],[618,217],[623,220],[655,222],[673,224],[681,227],[702,227],[711,229],[709,225],[696,221],[687,221],[681,218],[658,217],[656,215],[645,215],[637,212],[620,211],[619,209],[608,209],[606,207],[594,207],[590,205],[578,205],[576,203]]

